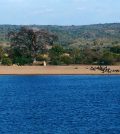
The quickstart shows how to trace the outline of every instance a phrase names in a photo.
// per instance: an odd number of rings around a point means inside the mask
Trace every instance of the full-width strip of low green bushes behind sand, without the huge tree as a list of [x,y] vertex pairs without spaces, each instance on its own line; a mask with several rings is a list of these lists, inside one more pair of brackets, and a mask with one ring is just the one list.
[[[60,45],[54,45],[46,53],[36,54],[36,61],[46,61],[51,65],[91,64],[91,65],[115,65],[120,64],[120,52],[112,47],[110,51],[96,51],[89,48],[64,49]],[[0,47],[0,61],[3,65],[32,65],[32,55],[20,52],[17,49],[3,49]],[[39,62],[38,62],[39,65]]]

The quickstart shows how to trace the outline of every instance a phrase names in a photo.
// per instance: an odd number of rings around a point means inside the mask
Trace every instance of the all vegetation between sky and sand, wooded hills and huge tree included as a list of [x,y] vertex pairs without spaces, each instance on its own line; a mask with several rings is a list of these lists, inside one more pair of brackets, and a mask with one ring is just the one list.
[[[43,30],[44,29],[44,30]],[[120,24],[0,26],[4,65],[46,61],[52,65],[120,64]],[[58,44],[58,45],[56,45]]]

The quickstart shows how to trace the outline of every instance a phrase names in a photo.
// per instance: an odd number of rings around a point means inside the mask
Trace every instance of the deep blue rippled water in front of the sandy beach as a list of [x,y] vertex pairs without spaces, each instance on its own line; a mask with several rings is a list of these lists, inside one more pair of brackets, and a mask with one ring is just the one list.
[[120,76],[0,76],[0,134],[120,134]]

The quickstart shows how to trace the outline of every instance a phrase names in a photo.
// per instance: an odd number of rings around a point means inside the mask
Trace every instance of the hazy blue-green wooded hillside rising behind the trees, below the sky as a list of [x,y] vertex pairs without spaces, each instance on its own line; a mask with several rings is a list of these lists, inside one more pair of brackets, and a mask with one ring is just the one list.
[[[7,34],[18,31],[22,25],[0,25],[0,42],[9,43]],[[85,26],[29,25],[55,33],[57,44],[64,47],[83,47],[85,45],[120,45],[120,23],[96,24]]]

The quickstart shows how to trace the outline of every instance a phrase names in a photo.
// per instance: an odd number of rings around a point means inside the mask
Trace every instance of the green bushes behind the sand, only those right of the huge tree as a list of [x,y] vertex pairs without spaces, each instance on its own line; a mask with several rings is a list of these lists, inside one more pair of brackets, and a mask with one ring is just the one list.
[[[90,48],[63,49],[62,46],[53,46],[49,51],[50,63],[54,65],[69,64],[93,64],[113,65],[120,62],[120,52],[111,50],[95,50]],[[119,47],[120,50],[120,47]]]

